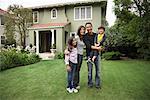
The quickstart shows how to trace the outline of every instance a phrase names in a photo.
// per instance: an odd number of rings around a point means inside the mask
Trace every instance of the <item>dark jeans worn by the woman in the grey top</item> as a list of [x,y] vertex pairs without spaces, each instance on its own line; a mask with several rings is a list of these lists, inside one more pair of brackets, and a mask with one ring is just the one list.
[[83,55],[78,54],[78,64],[77,64],[77,68],[75,70],[75,77],[74,77],[75,86],[78,86],[79,82],[80,82],[80,68],[82,65],[82,61],[83,61]]

